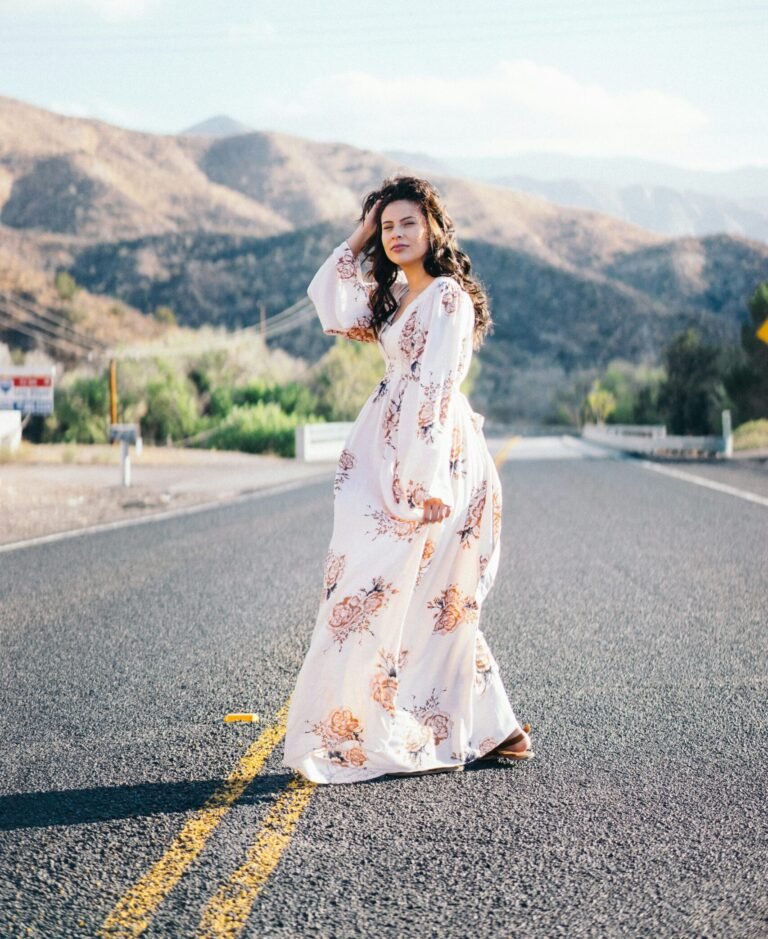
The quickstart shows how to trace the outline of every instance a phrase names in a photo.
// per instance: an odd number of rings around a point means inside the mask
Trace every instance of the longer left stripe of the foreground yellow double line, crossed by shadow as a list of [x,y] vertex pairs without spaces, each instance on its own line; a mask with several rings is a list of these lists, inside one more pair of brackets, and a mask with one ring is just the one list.
[[160,903],[181,880],[234,803],[261,772],[270,753],[285,735],[288,704],[275,716],[246,750],[240,762],[210,796],[202,808],[186,822],[165,854],[137,881],[115,905],[99,930],[102,939],[140,936],[149,926]]

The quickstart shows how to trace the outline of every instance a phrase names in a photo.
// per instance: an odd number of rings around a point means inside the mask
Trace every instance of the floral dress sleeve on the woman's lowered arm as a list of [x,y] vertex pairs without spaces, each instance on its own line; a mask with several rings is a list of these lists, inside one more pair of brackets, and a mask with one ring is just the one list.
[[397,514],[423,518],[426,498],[453,505],[451,442],[453,399],[468,367],[475,310],[456,281],[443,278],[419,311],[415,343],[400,406],[393,493]]

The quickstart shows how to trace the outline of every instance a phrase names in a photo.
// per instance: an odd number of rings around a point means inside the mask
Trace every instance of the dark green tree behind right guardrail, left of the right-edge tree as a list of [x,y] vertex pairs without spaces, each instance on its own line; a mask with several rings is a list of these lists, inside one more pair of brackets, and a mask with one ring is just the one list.
[[659,407],[672,434],[717,434],[721,412],[731,406],[723,384],[721,350],[705,343],[689,327],[665,346],[667,372],[659,391]]

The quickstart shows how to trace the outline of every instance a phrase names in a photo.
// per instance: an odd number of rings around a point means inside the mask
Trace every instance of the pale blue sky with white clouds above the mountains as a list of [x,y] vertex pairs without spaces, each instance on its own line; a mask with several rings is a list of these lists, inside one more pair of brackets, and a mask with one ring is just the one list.
[[133,130],[768,166],[765,0],[0,0],[0,95]]

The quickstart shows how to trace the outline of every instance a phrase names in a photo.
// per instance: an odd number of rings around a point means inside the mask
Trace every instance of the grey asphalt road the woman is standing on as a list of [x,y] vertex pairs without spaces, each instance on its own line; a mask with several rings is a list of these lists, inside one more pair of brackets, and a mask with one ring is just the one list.
[[[584,454],[501,470],[482,625],[536,759],[315,788],[240,935],[768,935],[768,506]],[[0,555],[0,935],[99,934],[274,722],[331,499],[329,477]],[[239,709],[261,725],[222,723]],[[210,934],[281,756],[144,935]]]

